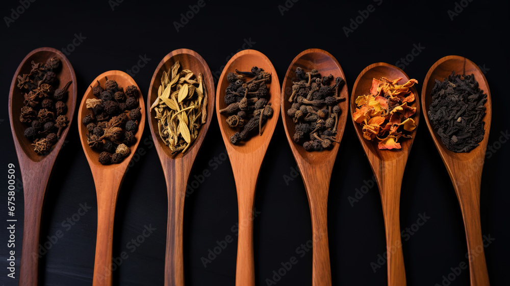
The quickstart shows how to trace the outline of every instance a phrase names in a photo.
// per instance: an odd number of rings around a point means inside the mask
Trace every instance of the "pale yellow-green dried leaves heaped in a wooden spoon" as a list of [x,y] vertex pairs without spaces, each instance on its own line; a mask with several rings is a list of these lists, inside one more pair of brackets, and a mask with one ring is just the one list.
[[163,71],[158,98],[150,109],[156,111],[161,140],[172,154],[186,152],[207,120],[207,90],[202,75],[195,78],[189,69],[176,61]]

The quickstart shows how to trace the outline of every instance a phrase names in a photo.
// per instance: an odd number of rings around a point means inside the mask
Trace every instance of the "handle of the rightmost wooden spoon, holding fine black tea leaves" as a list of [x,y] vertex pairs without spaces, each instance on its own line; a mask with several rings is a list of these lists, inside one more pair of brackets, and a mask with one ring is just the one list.
[[[474,164],[471,166],[466,165],[462,168],[464,172],[457,172],[457,174],[467,175],[468,172],[466,170],[472,170],[473,166]],[[462,178],[465,179],[462,180]],[[489,285],[489,274],[483,251],[484,242],[482,240],[480,222],[480,183],[481,170],[476,175],[461,177],[461,180],[453,179],[455,193],[461,205],[462,218],[466,230],[471,286]]]

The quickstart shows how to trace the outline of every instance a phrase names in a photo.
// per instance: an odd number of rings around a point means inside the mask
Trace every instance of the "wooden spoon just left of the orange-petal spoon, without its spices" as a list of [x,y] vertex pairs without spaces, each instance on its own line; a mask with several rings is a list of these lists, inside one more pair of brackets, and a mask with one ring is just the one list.
[[[329,190],[329,181],[335,158],[337,157],[340,140],[345,129],[347,121],[347,109],[349,108],[349,93],[347,85],[343,86],[338,96],[345,98],[340,102],[341,113],[338,118],[337,135],[338,143],[333,144],[333,148],[323,151],[308,152],[304,150],[302,144],[296,144],[292,140],[295,132],[294,122],[287,115],[287,110],[291,107],[289,97],[292,93],[293,82],[297,81],[295,70],[297,67],[305,71],[312,69],[319,70],[321,76],[333,75],[345,79],[344,72],[338,61],[328,52],[319,49],[309,49],[301,52],[292,60],[287,74],[285,74],[282,86],[282,120],[284,122],[285,133],[289,140],[289,145],[299,167],[299,172],[303,178],[304,187],[307,191],[310,212],[312,216],[313,233],[313,264],[312,264],[312,285],[331,285],[331,268],[329,266],[329,246],[327,238],[327,194]],[[335,81],[333,81],[333,84]]]

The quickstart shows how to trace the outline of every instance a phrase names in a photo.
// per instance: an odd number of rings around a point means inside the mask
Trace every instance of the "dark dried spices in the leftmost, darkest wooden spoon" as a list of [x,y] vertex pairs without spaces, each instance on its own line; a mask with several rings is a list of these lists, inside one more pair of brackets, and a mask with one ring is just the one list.
[[23,92],[23,107],[19,121],[30,125],[24,136],[33,142],[34,152],[38,155],[47,154],[57,143],[62,130],[67,127],[67,89],[58,86],[57,73],[62,67],[58,57],[50,58],[46,63],[32,61],[29,74],[18,75],[18,88]]

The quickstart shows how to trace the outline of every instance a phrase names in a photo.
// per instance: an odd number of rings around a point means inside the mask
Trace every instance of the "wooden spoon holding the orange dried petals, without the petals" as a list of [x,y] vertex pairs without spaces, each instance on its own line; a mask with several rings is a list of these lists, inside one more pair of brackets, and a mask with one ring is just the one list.
[[[386,77],[388,79],[402,78],[399,84],[403,84],[410,79],[403,70],[387,63],[374,63],[367,66],[360,73],[352,88],[350,106],[351,118],[353,118],[352,113],[356,110],[356,98],[364,94],[369,94],[370,87],[372,86],[372,79],[380,79],[381,77]],[[412,107],[416,107],[416,113],[411,118],[413,118],[418,125],[420,120],[418,92],[416,92],[414,86],[411,87],[411,90],[416,97],[415,101],[410,104]],[[362,126],[353,119],[352,124],[367,154],[368,161],[370,162],[370,166],[377,180],[377,186],[379,187],[386,231],[388,285],[404,286],[405,269],[402,242],[400,240],[399,219],[400,187],[402,185],[405,163],[416,137],[416,128],[411,132],[412,138],[400,140],[402,149],[379,150],[377,147],[377,140],[372,142],[363,138]]]

